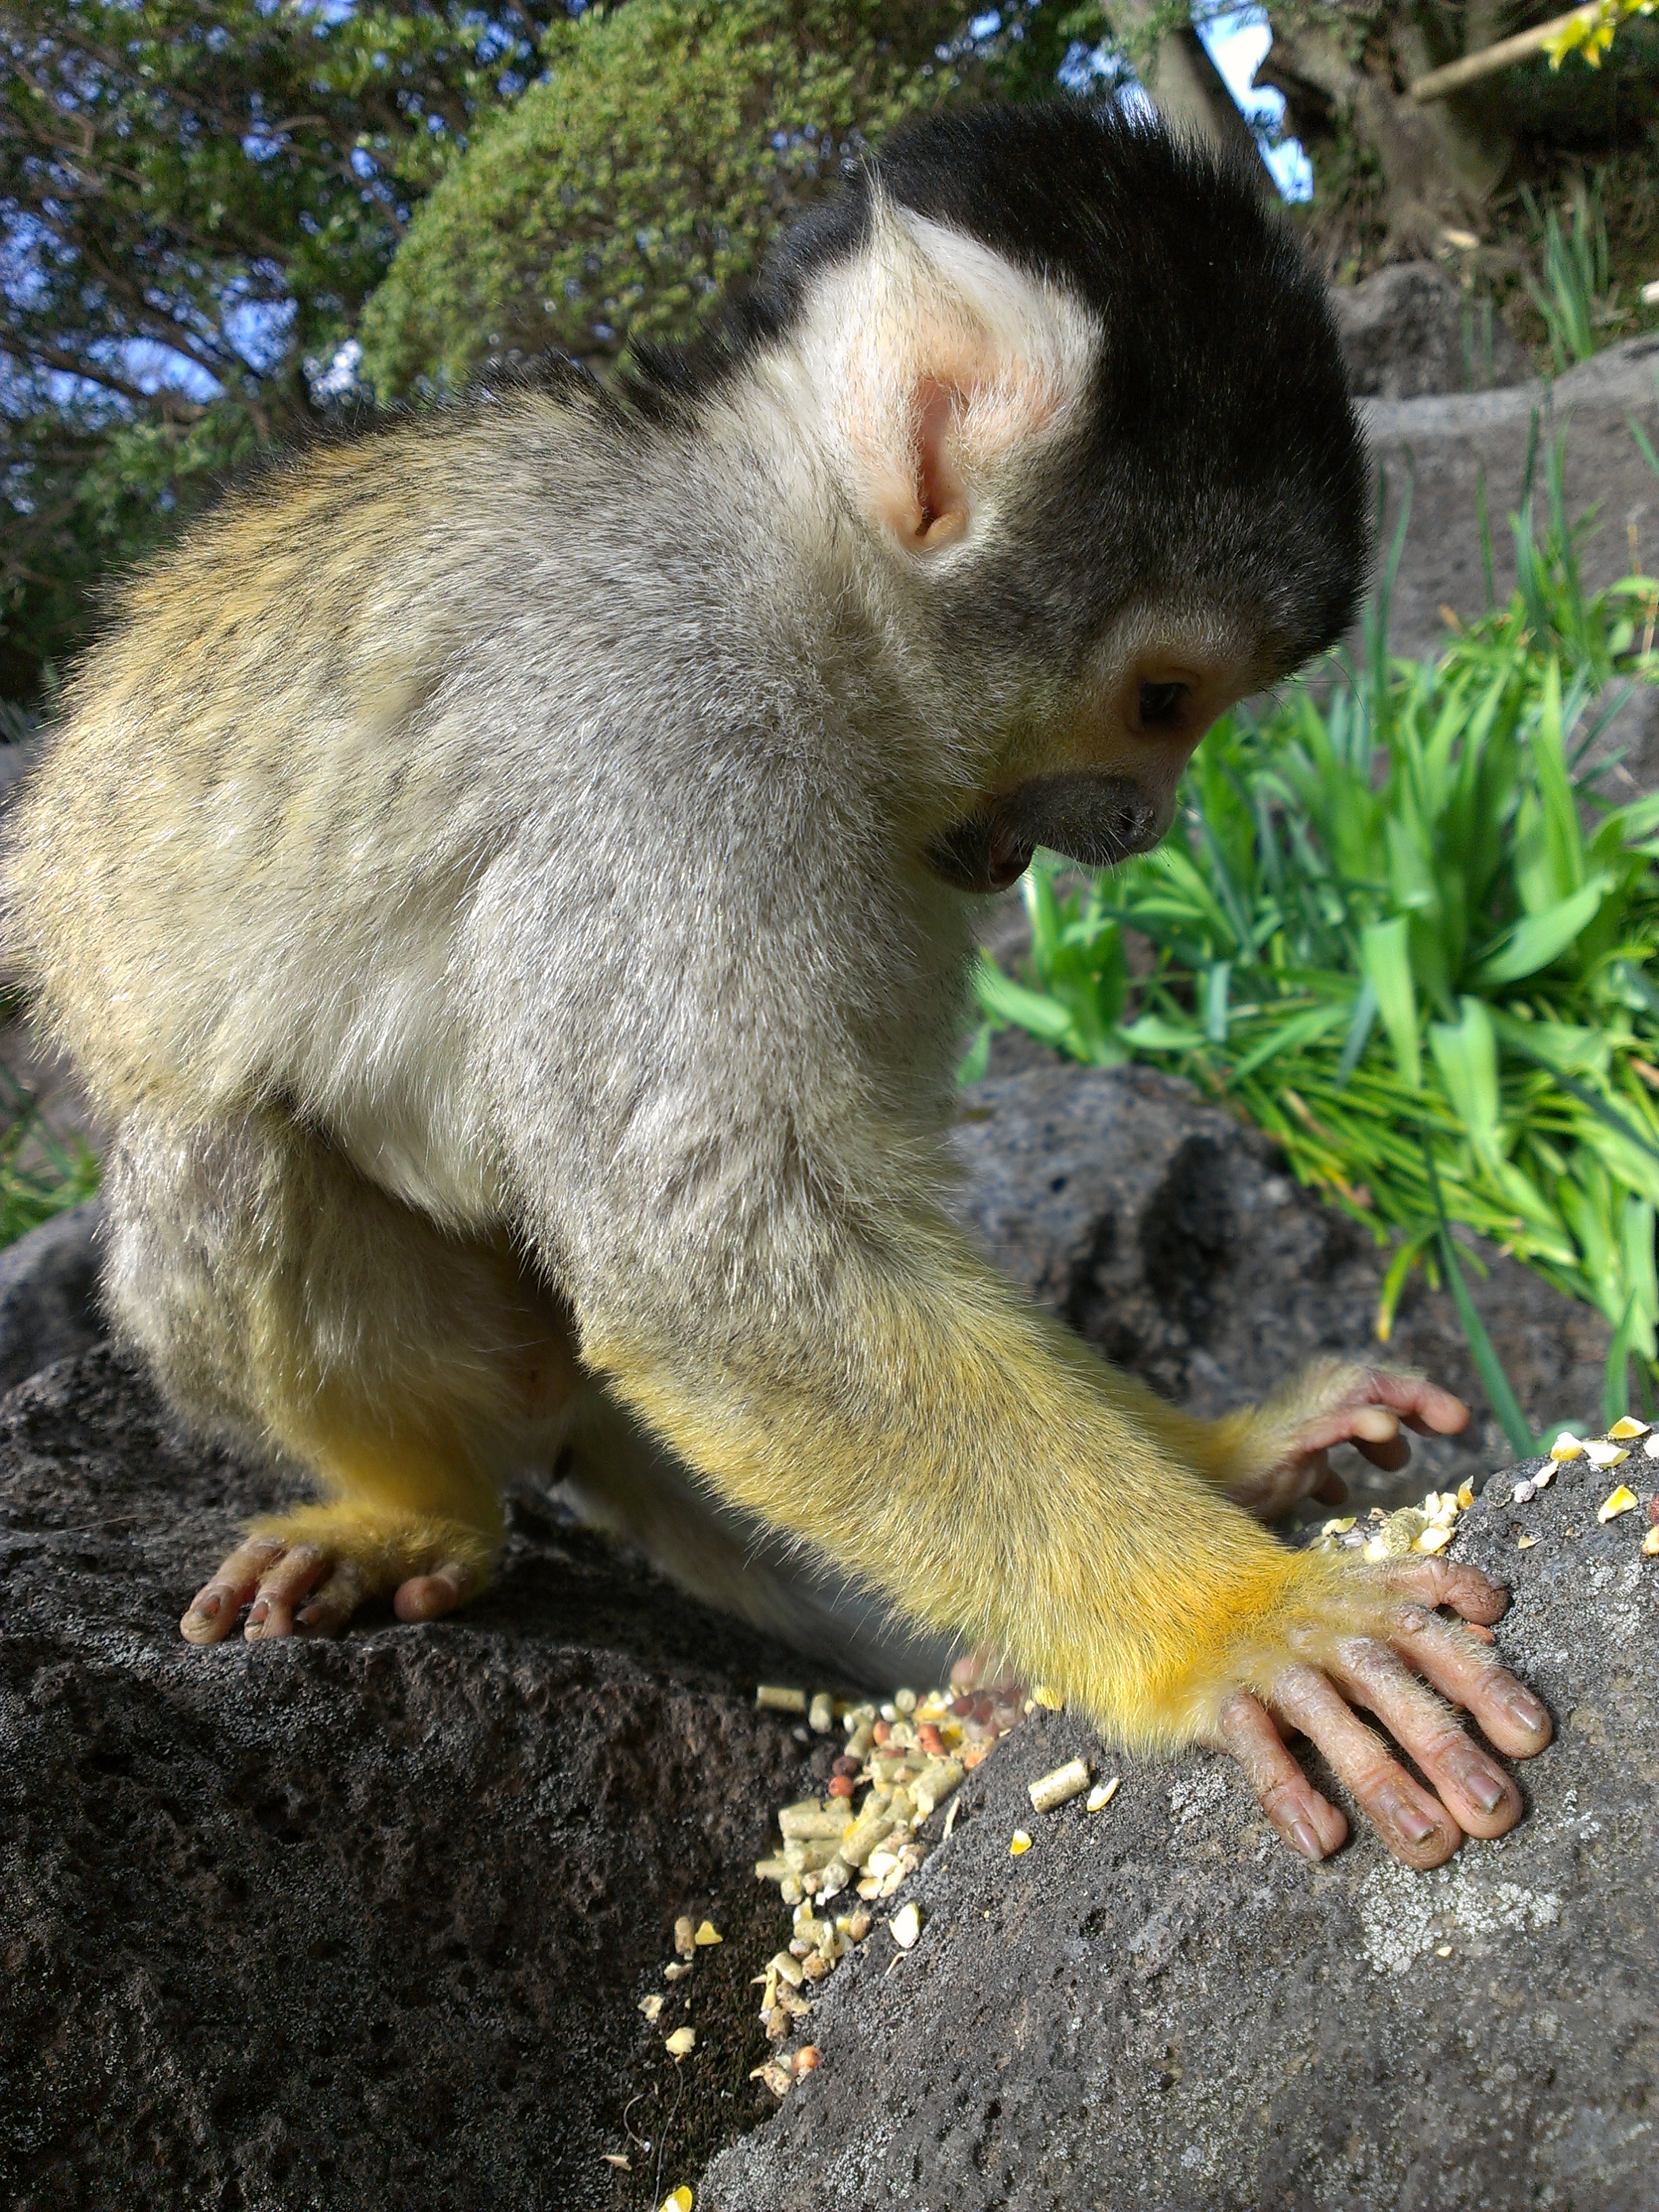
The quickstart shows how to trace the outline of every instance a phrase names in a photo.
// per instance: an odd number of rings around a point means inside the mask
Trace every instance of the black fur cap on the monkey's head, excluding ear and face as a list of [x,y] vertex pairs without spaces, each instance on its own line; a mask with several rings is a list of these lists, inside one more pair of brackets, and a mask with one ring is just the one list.
[[812,272],[867,234],[872,181],[1060,281],[1106,332],[1082,438],[942,619],[1064,659],[1175,591],[1243,619],[1263,677],[1343,633],[1367,476],[1325,288],[1252,175],[1117,108],[980,106],[894,133],[706,347],[648,363],[659,389],[690,396],[783,336]]

